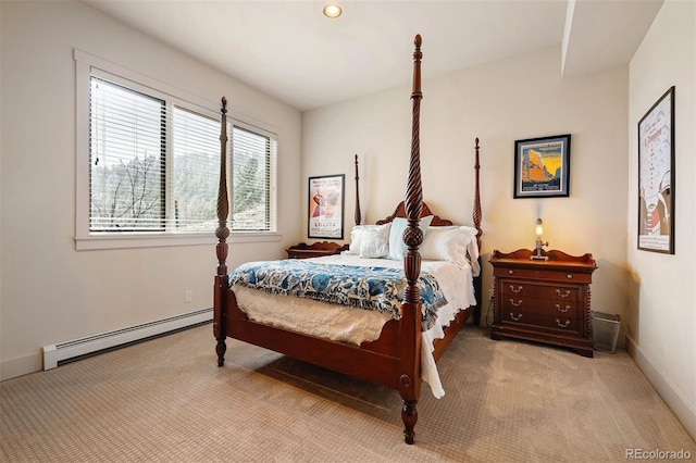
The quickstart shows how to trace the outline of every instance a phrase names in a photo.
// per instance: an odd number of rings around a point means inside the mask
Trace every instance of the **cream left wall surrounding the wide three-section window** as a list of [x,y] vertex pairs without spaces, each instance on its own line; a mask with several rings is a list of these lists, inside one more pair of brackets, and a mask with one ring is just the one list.
[[[212,306],[214,245],[75,250],[75,48],[195,95],[214,111],[224,95],[232,110],[277,127],[285,233],[281,242],[232,246],[228,263],[282,258],[297,242],[298,111],[84,3],[1,8],[0,378],[39,370],[41,346]],[[220,50],[221,60],[225,53],[234,50]],[[192,303],[184,303],[186,289]]]

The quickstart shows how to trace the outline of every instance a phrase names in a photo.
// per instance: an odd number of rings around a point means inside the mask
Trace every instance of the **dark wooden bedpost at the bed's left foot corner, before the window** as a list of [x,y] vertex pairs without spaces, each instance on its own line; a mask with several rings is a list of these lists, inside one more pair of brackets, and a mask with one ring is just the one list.
[[217,353],[217,366],[225,363],[225,351],[227,345],[227,324],[225,320],[225,308],[227,306],[227,215],[229,213],[229,201],[227,198],[227,99],[222,97],[222,113],[220,127],[220,185],[217,187],[217,274],[215,275],[215,288],[213,297],[213,335],[217,340],[215,352]]

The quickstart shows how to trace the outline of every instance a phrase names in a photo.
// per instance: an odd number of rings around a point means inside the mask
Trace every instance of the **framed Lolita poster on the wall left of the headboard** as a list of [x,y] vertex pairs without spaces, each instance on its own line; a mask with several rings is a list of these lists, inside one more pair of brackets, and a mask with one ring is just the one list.
[[345,175],[309,177],[309,238],[344,239]]

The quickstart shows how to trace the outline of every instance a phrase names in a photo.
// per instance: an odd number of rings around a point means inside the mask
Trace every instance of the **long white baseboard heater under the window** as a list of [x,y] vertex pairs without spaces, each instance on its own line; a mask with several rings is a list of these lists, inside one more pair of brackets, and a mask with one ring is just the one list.
[[55,368],[71,359],[88,355],[105,349],[145,340],[177,329],[187,328],[210,322],[213,318],[212,309],[202,309],[171,318],[88,336],[82,339],[44,346],[44,370]]

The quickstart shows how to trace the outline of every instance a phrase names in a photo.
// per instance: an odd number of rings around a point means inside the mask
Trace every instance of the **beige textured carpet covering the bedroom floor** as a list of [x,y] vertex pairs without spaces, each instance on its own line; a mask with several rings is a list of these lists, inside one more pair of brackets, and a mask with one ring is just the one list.
[[211,325],[0,384],[8,462],[597,462],[696,443],[624,352],[493,341],[468,326],[425,387],[415,445],[396,391],[227,341]]

